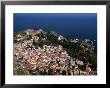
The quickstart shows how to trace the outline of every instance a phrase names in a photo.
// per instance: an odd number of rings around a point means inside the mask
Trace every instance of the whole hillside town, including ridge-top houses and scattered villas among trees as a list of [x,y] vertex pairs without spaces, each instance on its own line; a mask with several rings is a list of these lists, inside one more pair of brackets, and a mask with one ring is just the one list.
[[[43,33],[43,36],[41,36]],[[49,40],[47,32],[42,29],[27,29],[14,33],[14,75],[96,75],[97,71],[89,61],[83,61],[78,57],[73,57],[68,50],[63,47],[64,38],[55,35],[56,41]],[[45,36],[44,36],[45,35]],[[54,34],[52,34],[54,35]],[[55,39],[53,38],[53,40]],[[47,42],[48,41],[48,42]],[[71,40],[76,44],[78,39]],[[87,40],[86,40],[87,42]],[[83,49],[83,43],[80,47]],[[90,48],[90,45],[88,46]],[[88,51],[86,47],[84,52]],[[92,50],[89,50],[93,53]],[[73,52],[74,53],[74,52]],[[86,57],[84,60],[86,60]]]

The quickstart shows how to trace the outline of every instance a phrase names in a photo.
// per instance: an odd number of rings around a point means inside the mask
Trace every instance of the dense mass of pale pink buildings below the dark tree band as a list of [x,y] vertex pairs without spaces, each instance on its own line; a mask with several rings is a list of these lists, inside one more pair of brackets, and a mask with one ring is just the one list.
[[[40,30],[42,31],[42,30]],[[39,31],[39,32],[40,32]],[[35,48],[33,44],[34,34],[32,30],[26,31],[27,35],[33,35],[32,39],[24,40],[23,43],[14,43],[14,69],[22,68],[27,75],[92,75],[92,69],[88,65],[85,70],[79,69],[84,62],[72,58],[61,45]],[[35,32],[34,32],[35,33]],[[19,35],[18,38],[22,36]],[[22,39],[22,38],[21,38]],[[39,38],[36,37],[38,40]],[[31,48],[27,46],[32,46]]]

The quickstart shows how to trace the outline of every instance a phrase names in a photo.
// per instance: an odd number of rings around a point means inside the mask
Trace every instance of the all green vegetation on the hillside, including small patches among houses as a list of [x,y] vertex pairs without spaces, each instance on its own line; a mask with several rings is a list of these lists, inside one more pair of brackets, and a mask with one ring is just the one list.
[[[23,36],[23,40],[30,40],[32,38],[31,35],[27,35],[25,32],[15,32],[14,36],[18,34]],[[33,40],[33,45],[35,46],[35,48],[42,48],[43,45],[61,45],[71,57],[78,58],[79,60],[82,60],[84,63],[90,62],[90,64],[92,64],[91,67],[93,69],[97,68],[97,55],[92,50],[93,42],[91,40],[85,39],[79,40],[78,42],[71,42],[71,39],[65,38],[62,40],[58,40],[59,35],[55,32],[41,32],[40,34],[36,34],[35,36],[39,37],[39,40],[37,42]],[[14,40],[14,42],[17,43],[18,41]],[[32,48],[32,46],[27,46],[26,48]],[[84,67],[79,66],[79,68],[83,70]],[[48,74],[51,75],[52,71],[49,70]],[[63,72],[63,74],[65,74],[65,71]]]

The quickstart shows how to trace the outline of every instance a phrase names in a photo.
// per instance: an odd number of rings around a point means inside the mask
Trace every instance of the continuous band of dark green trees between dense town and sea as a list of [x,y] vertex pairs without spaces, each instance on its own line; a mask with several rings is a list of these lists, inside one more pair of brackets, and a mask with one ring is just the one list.
[[[39,35],[39,37],[39,42],[37,42],[36,45],[40,47],[42,47],[44,44],[61,45],[71,57],[78,58],[84,63],[90,62],[90,64],[92,64],[92,68],[97,68],[97,57],[91,49],[93,46],[93,42],[91,40],[85,39],[79,40],[78,42],[71,42],[71,40],[63,39],[59,41],[58,35],[51,32],[47,32],[46,34],[42,33]],[[43,41],[42,38],[46,38],[46,40]],[[83,68],[83,66],[81,68]]]

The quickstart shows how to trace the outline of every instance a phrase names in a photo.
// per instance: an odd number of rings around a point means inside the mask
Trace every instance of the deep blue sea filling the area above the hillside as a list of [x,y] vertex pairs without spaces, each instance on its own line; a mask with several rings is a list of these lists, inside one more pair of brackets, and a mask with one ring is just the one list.
[[13,17],[15,32],[41,28],[67,38],[97,40],[96,13],[14,13]]

